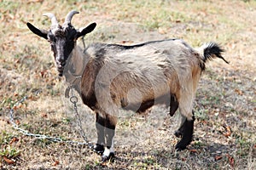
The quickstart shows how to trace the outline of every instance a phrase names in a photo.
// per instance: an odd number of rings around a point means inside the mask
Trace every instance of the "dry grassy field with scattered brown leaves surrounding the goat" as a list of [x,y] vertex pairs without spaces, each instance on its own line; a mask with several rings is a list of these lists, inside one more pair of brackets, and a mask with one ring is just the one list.
[[[174,150],[179,116],[161,106],[145,115],[125,112],[115,137],[116,158],[102,165],[84,145],[58,143],[30,133],[83,142],[67,84],[57,76],[49,43],[26,22],[49,29],[67,12],[76,28],[96,22],[85,44],[136,44],[182,38],[193,47],[218,42],[224,58],[207,63],[195,99],[194,141]],[[256,169],[256,1],[6,1],[0,0],[0,169]],[[79,45],[83,43],[79,40]],[[84,132],[96,141],[93,113],[79,100]]]

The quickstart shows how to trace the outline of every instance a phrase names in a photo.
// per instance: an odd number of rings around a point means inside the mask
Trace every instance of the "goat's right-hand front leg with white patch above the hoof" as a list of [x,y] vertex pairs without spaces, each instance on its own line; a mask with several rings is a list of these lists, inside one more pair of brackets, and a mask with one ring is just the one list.
[[106,127],[105,127],[105,137],[106,137],[106,147],[102,154],[102,161],[108,161],[113,158],[113,136],[115,133],[115,127],[117,123],[117,117],[106,115]]

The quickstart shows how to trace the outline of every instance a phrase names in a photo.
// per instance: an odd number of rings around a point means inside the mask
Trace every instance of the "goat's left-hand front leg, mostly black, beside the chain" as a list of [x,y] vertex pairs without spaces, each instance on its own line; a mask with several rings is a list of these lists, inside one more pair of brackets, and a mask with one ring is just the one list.
[[106,116],[103,116],[100,113],[96,112],[97,142],[94,145],[93,150],[98,154],[102,154],[104,152],[105,124],[106,124]]

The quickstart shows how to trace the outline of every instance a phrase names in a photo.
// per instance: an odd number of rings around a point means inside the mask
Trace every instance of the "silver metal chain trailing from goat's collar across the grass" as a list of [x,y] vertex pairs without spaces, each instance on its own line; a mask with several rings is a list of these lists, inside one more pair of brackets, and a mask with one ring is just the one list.
[[9,111],[9,121],[12,123],[13,127],[16,130],[18,130],[20,133],[22,133],[22,134],[24,134],[26,136],[32,136],[32,137],[34,137],[36,139],[48,139],[48,140],[53,141],[53,142],[73,144],[73,145],[86,145],[90,149],[92,148],[92,143],[89,142],[87,137],[85,136],[85,133],[84,133],[84,130],[83,130],[83,127],[82,127],[82,124],[81,124],[81,119],[80,119],[79,111],[78,111],[78,107],[77,107],[78,98],[75,95],[73,95],[73,93],[72,93],[72,96],[70,98],[70,101],[71,101],[71,103],[73,103],[73,108],[74,108],[74,111],[75,111],[75,114],[76,114],[76,118],[77,118],[77,124],[78,124],[78,126],[80,128],[80,135],[83,137],[84,142],[73,141],[73,140],[63,140],[61,138],[51,137],[51,136],[47,136],[47,135],[44,135],[44,134],[30,133],[27,130],[25,130],[23,128],[20,128],[16,124],[15,119],[14,119],[15,108],[18,105],[22,104],[24,101],[26,101],[26,99],[27,99],[27,97],[25,96],[22,99],[20,99],[19,101],[17,101],[15,103],[15,105]]

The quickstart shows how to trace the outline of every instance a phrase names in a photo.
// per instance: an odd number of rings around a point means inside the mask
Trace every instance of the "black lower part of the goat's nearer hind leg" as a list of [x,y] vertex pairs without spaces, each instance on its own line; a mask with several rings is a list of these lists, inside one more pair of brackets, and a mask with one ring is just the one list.
[[187,145],[190,144],[193,137],[193,131],[194,131],[194,122],[195,122],[195,116],[193,116],[193,119],[191,121],[186,121],[183,123],[183,137],[182,139],[176,144],[175,149],[176,150],[184,150],[187,148]]

